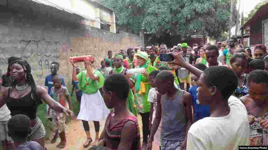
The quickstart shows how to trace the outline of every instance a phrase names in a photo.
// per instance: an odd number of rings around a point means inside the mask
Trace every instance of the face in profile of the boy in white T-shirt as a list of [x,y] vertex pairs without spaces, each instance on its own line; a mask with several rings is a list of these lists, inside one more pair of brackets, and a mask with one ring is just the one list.
[[205,76],[202,73],[198,79],[198,88],[197,88],[197,98],[200,104],[209,104],[211,101],[211,96],[209,92],[209,87],[205,84]]

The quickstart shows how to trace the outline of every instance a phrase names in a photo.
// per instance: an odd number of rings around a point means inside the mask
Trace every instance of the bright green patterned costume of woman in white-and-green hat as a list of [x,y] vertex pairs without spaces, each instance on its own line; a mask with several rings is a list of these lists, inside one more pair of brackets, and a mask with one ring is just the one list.
[[[157,70],[157,68],[144,64],[144,66],[137,66],[136,68],[145,68],[147,74],[150,74],[152,71]],[[143,76],[142,74],[138,73],[135,75],[134,80],[136,80],[135,88],[136,88],[136,98],[138,103],[138,110],[140,113],[150,112],[151,103],[147,101],[148,93],[151,89],[151,84],[149,80]]]

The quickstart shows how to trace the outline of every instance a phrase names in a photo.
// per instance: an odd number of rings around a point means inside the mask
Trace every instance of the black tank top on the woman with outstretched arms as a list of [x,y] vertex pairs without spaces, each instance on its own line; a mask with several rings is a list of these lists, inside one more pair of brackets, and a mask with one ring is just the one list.
[[31,120],[36,119],[38,104],[32,98],[32,90],[21,98],[10,97],[11,88],[8,90],[6,105],[8,106],[11,116],[22,114],[28,116]]

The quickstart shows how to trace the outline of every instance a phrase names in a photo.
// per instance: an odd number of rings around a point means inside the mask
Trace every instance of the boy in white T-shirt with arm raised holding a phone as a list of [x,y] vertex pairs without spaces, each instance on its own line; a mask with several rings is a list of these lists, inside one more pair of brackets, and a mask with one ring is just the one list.
[[187,137],[187,150],[238,149],[249,144],[250,127],[244,104],[231,96],[238,81],[236,74],[226,66],[211,66],[203,72],[177,53],[171,53],[173,64],[180,65],[197,77],[197,96],[200,104],[209,105],[210,117],[194,123]]

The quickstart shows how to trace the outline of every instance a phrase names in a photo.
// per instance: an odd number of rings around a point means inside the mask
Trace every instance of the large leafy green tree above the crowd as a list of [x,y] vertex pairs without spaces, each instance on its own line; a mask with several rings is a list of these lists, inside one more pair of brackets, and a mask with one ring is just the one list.
[[[101,0],[101,3],[114,10],[118,27],[136,34],[143,30],[158,37],[169,33],[217,38],[229,29],[230,0]],[[234,7],[233,25],[236,15]]]

